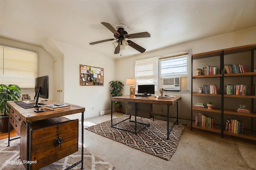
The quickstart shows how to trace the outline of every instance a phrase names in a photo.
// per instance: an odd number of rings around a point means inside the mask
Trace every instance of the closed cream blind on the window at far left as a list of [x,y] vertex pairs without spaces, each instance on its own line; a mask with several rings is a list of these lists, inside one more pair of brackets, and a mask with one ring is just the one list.
[[38,53],[0,45],[0,84],[34,88],[38,77]]

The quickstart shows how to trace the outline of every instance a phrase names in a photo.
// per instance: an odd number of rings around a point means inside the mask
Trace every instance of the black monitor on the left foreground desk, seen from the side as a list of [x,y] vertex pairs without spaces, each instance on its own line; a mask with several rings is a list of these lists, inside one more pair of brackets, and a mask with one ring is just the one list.
[[34,100],[36,98],[36,104],[35,107],[41,107],[38,105],[38,98],[49,98],[49,82],[48,82],[48,76],[42,76],[35,79],[35,92],[36,95],[34,97]]

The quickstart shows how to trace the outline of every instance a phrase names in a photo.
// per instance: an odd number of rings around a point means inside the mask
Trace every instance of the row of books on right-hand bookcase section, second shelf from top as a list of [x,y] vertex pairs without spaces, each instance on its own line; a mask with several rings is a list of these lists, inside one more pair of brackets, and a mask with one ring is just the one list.
[[240,85],[233,85],[228,84],[225,86],[226,94],[231,95],[247,95],[247,86],[240,84]]

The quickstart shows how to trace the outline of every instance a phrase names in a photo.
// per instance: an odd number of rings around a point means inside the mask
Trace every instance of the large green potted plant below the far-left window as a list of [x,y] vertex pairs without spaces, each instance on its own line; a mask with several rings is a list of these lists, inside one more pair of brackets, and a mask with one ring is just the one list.
[[[8,132],[9,124],[9,106],[7,101],[18,101],[21,90],[17,85],[9,84],[8,86],[0,84],[0,131]],[[13,130],[13,127],[10,127]]]

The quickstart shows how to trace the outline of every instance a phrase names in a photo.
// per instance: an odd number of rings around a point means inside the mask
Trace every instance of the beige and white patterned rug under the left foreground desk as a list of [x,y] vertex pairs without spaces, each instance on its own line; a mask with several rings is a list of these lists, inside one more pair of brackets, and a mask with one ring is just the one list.
[[[10,141],[10,147],[7,147],[8,140],[0,141],[0,170],[25,170],[20,159],[20,140]],[[81,145],[78,147],[78,152],[75,152],[65,158],[58,160],[40,170],[64,170],[72,164],[81,160]],[[80,170],[81,163],[74,166],[72,170]],[[96,156],[86,148],[84,148],[84,169],[85,170],[113,170],[114,166],[106,162],[99,156]]]

